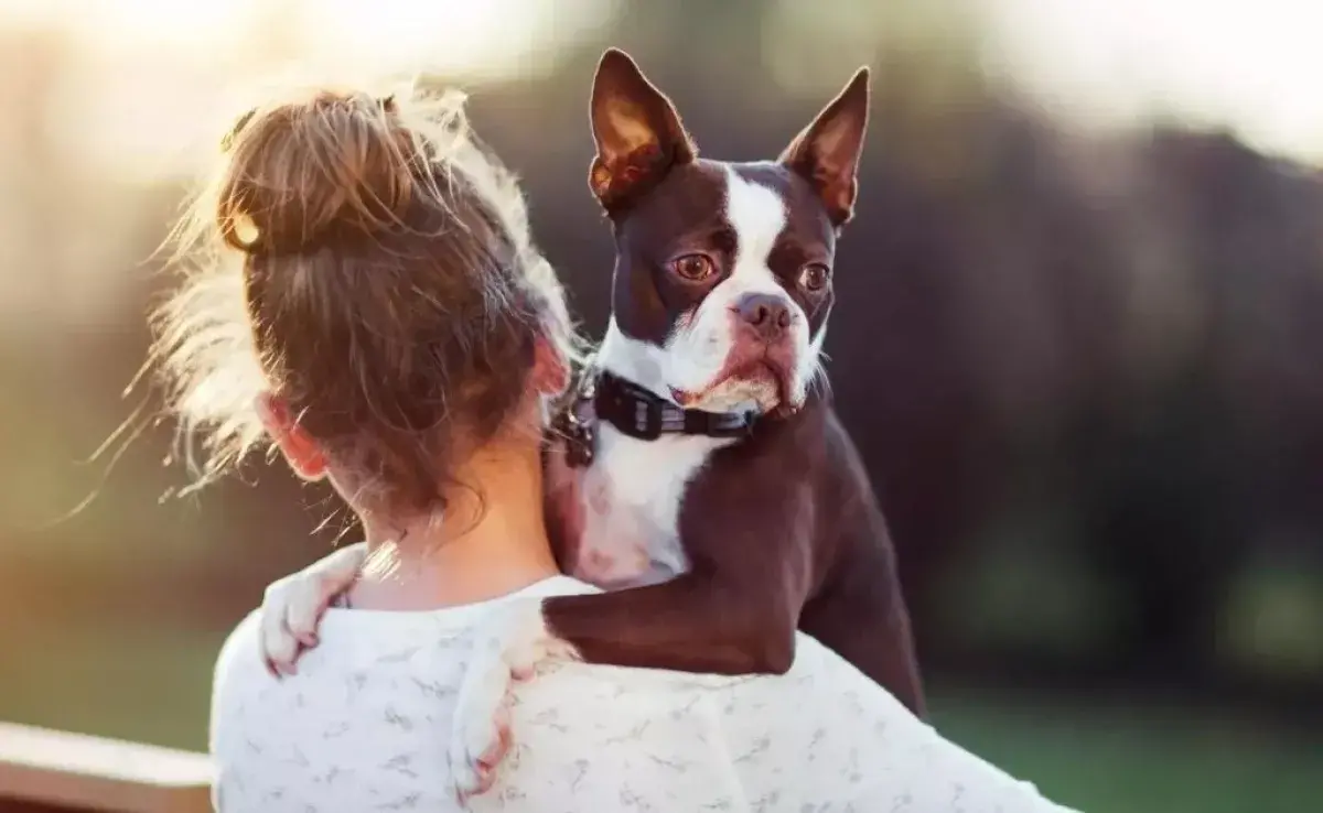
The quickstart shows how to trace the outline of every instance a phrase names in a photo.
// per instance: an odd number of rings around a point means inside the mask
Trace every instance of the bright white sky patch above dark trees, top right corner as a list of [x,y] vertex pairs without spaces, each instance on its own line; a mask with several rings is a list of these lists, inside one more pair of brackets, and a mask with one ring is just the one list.
[[1310,0],[982,0],[1005,70],[1098,124],[1155,115],[1323,160],[1323,4]]

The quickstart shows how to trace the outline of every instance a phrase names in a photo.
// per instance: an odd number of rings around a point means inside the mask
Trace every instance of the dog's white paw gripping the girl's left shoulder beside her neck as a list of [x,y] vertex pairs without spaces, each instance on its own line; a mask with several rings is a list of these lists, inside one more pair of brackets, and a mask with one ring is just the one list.
[[366,555],[366,545],[351,545],[266,588],[261,644],[271,674],[294,674],[299,653],[318,645],[321,613],[353,584]]

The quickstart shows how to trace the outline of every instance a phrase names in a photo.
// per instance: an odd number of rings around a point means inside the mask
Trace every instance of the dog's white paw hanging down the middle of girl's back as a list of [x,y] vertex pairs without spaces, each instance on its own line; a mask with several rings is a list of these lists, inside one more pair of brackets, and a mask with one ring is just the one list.
[[576,657],[573,646],[546,629],[541,601],[516,601],[475,631],[450,743],[450,767],[460,800],[491,788],[509,751],[515,682],[533,677],[546,660]]

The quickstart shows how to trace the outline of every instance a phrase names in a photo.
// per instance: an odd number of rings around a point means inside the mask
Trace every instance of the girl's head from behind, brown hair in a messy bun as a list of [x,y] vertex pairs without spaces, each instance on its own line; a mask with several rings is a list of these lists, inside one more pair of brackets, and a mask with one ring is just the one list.
[[311,91],[222,147],[157,319],[204,480],[270,436],[360,509],[429,513],[474,452],[532,439],[570,357],[564,295],[456,95]]

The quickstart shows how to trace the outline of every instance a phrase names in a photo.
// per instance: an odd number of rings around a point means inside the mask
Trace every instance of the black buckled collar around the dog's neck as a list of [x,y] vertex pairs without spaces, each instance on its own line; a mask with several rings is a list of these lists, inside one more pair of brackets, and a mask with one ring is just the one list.
[[[595,419],[585,408],[589,403]],[[757,412],[685,410],[619,375],[589,370],[554,427],[568,443],[566,461],[582,467],[593,461],[597,420],[606,420],[630,438],[656,440],[668,434],[744,438],[757,419]]]

